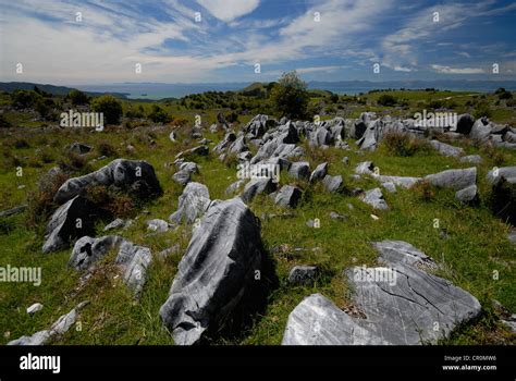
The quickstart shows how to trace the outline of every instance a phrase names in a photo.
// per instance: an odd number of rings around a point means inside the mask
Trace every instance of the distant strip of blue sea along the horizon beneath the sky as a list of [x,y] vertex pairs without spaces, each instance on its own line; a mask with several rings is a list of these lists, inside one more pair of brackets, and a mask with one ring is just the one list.
[[[202,84],[161,84],[161,83],[120,83],[105,85],[72,85],[84,91],[122,93],[130,99],[157,100],[181,98],[205,91],[241,90],[249,83],[202,83]],[[308,88],[329,90],[336,94],[356,95],[373,89],[423,89],[435,88],[453,91],[494,91],[499,87],[516,90],[516,81],[392,81],[392,82],[309,82]]]

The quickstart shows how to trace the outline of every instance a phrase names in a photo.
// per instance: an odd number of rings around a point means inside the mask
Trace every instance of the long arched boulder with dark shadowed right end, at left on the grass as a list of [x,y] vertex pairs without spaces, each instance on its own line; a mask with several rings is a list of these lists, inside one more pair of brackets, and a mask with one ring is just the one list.
[[139,197],[155,197],[162,194],[155,169],[146,161],[116,159],[98,171],[67,180],[58,189],[54,201],[62,204],[85,192],[88,185],[114,185],[127,190],[145,189]]

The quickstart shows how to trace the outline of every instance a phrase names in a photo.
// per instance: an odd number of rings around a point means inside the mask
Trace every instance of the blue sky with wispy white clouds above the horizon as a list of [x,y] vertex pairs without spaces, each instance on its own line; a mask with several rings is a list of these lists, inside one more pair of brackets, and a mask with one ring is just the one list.
[[516,79],[515,21],[494,0],[0,0],[0,81]]

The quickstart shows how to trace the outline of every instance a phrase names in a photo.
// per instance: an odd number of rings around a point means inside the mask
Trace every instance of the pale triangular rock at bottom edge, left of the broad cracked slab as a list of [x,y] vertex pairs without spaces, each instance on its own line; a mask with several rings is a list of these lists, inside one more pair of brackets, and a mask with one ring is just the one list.
[[320,294],[305,298],[288,315],[282,345],[384,345],[373,332]]

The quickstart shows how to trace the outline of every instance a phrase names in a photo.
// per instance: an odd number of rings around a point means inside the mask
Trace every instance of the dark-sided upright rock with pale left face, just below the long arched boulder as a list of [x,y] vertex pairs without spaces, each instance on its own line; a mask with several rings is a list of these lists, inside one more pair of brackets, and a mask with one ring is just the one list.
[[59,207],[47,224],[42,253],[66,248],[71,238],[95,234],[90,211],[89,202],[81,196]]

